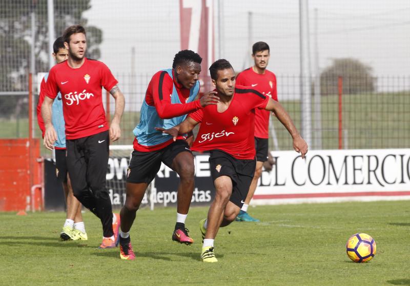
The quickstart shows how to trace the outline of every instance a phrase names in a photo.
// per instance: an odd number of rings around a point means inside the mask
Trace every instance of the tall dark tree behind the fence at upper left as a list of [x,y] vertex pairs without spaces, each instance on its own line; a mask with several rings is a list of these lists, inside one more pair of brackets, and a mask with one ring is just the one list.
[[[87,25],[83,13],[91,8],[91,0],[54,0],[55,36],[74,24],[83,25],[87,31],[87,57],[98,59],[98,45],[103,32]],[[28,90],[31,49],[31,12],[35,12],[35,72],[47,72],[48,65],[48,18],[47,0],[0,0],[0,91]],[[35,75],[34,75],[35,76]],[[27,114],[25,98],[0,96],[1,116]],[[22,112],[23,112],[22,111]]]

